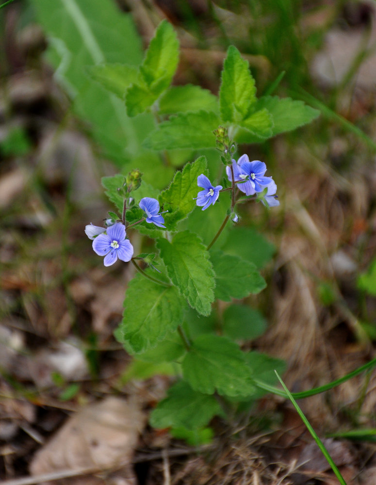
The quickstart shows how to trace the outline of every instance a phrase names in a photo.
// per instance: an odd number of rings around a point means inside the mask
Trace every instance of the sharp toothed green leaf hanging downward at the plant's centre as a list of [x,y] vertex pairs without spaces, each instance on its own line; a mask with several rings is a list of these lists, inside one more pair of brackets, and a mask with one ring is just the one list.
[[189,231],[178,232],[171,242],[159,239],[157,246],[167,274],[191,307],[209,315],[214,301],[214,272],[209,253],[201,240]]

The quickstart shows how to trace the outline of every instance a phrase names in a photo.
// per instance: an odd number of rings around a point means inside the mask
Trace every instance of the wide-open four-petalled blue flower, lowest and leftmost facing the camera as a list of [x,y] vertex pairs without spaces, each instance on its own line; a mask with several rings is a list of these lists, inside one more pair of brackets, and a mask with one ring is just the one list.
[[125,226],[121,222],[107,227],[106,234],[99,234],[93,241],[93,249],[99,256],[104,256],[105,266],[111,266],[117,258],[130,261],[133,256],[133,246],[125,239]]

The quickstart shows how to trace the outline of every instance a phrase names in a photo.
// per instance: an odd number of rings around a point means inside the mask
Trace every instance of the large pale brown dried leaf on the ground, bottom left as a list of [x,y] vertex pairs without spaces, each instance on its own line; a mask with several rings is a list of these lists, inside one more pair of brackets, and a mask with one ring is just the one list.
[[146,417],[138,404],[116,397],[90,404],[33,457],[32,475],[64,469],[109,469],[131,461]]

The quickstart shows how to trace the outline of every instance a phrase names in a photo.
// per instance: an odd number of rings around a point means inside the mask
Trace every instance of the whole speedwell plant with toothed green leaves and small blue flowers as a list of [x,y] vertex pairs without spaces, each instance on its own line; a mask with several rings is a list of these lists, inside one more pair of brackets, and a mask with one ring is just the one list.
[[[122,235],[115,238],[115,229],[97,226],[86,233],[94,238],[93,248],[105,256],[105,264],[124,255],[126,234],[131,241],[133,231],[147,237],[139,239],[146,252],[133,256],[128,242],[129,252],[120,258],[130,260],[137,274],[128,284],[115,335],[134,356],[134,369],[137,362],[145,369],[147,362],[151,375],[155,366],[173,363],[181,379],[153,410],[150,422],[190,439],[201,436],[214,415],[225,416],[214,393],[225,403],[230,398],[232,408],[237,397],[252,401],[259,396],[256,388],[263,379],[275,382],[269,371],[283,370],[280,361],[239,345],[261,335],[265,323],[248,305],[233,300],[241,302],[266,283],[246,252],[227,249],[249,245],[254,233],[229,226],[240,219],[240,203],[262,201],[273,207],[279,201],[275,182],[265,177],[264,162],[250,162],[246,154],[235,161],[237,142],[264,141],[310,122],[318,112],[290,98],[258,99],[249,65],[235,47],[228,50],[218,97],[199,86],[171,86],[178,60],[176,33],[163,21],[138,67],[101,65],[90,70],[94,79],[125,100],[130,117],[147,112],[154,116],[154,127],[145,124],[148,131],[138,160],[153,157],[144,170],[156,186],[165,186],[158,185],[161,173],[169,172],[173,179],[160,191],[142,180],[140,170],[103,178],[117,210],[110,213],[116,221],[111,227],[122,226]],[[215,159],[210,163],[212,173],[201,155],[173,176],[181,156],[176,149],[213,153],[215,148],[219,156],[216,167]],[[224,180],[221,185],[215,185],[213,173]],[[242,229],[244,241],[237,243]],[[262,245],[267,244],[262,239]],[[216,300],[226,304],[213,305]]]

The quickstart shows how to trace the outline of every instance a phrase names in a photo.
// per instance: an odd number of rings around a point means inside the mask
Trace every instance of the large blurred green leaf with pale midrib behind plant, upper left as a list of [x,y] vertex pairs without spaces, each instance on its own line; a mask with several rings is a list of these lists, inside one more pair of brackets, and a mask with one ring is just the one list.
[[56,78],[72,99],[73,111],[88,121],[95,140],[119,166],[140,155],[141,141],[153,129],[150,114],[130,119],[124,102],[84,74],[85,66],[139,65],[141,38],[130,14],[112,0],[31,0],[49,38],[47,55]]

